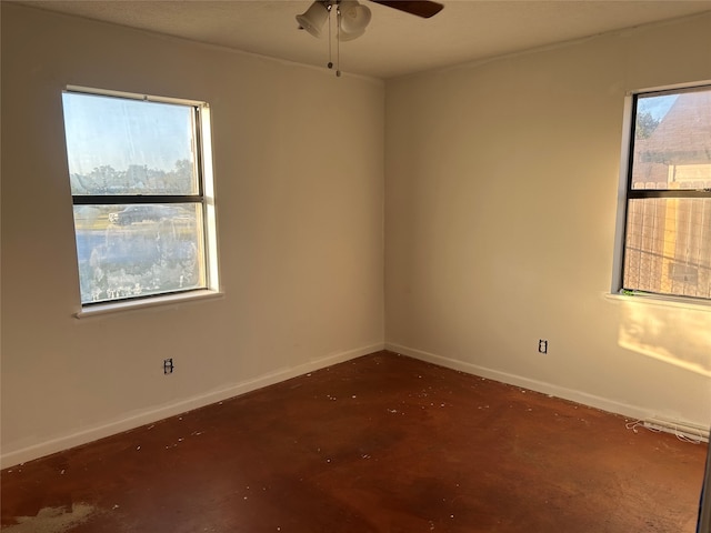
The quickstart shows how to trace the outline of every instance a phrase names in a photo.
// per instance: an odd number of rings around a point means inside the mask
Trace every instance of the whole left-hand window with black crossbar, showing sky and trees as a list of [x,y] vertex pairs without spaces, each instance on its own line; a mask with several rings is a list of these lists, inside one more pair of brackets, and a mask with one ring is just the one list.
[[62,94],[81,303],[217,289],[209,108]]

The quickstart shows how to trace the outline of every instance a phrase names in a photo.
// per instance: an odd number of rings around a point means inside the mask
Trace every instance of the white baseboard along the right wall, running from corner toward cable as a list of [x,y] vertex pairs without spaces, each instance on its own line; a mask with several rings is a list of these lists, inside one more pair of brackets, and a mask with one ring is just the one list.
[[468,363],[457,359],[450,359],[434,353],[425,352],[422,350],[415,350],[413,348],[385,342],[385,350],[409,355],[428,363],[439,364],[448,369],[458,370],[468,374],[479,375],[489,380],[500,381],[510,385],[521,386],[551,396],[569,400],[571,402],[580,403],[582,405],[589,405],[591,408],[600,409],[610,413],[621,414],[634,420],[651,419],[655,413],[652,413],[648,409],[629,405],[627,403],[620,403],[614,400],[610,400],[594,394],[588,394],[585,392],[575,391],[573,389],[567,389],[564,386],[554,385],[552,383],[545,383],[543,381],[531,380],[522,375],[510,374],[500,370],[488,369],[478,364]]

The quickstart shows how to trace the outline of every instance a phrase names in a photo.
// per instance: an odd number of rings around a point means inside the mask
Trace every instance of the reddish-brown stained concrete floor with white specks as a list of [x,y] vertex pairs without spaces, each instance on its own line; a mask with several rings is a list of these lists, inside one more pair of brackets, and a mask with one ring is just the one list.
[[692,533],[707,445],[380,352],[2,471],[8,533]]

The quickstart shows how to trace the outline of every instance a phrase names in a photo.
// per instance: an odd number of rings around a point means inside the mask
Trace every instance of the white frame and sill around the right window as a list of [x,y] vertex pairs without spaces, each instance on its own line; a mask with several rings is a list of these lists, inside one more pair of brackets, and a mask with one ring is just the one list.
[[[614,238],[614,254],[613,254],[613,270],[612,270],[612,283],[611,283],[611,296],[612,298],[633,298],[639,301],[647,301],[648,303],[682,306],[682,308],[701,308],[704,311],[711,311],[711,298],[695,298],[685,295],[672,295],[672,294],[659,294],[641,291],[628,291],[623,286],[624,281],[624,248],[627,237],[627,219],[628,219],[628,205],[630,197],[630,182],[632,179],[632,140],[634,135],[634,112],[635,112],[635,99],[641,94],[649,93],[663,93],[683,91],[693,88],[711,87],[711,80],[697,81],[689,83],[678,83],[672,86],[640,89],[630,91],[624,98],[624,114],[622,121],[622,149],[620,158],[620,180],[618,189],[618,209],[617,209],[617,222],[615,222],[615,238]],[[709,191],[684,191],[688,198],[709,198]],[[670,198],[674,194],[670,194]],[[679,198],[679,197],[677,197]]]

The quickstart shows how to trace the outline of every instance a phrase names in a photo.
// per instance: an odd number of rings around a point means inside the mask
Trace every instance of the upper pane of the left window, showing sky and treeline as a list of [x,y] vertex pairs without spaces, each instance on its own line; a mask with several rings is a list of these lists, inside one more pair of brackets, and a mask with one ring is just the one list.
[[72,194],[197,194],[191,105],[62,95]]

